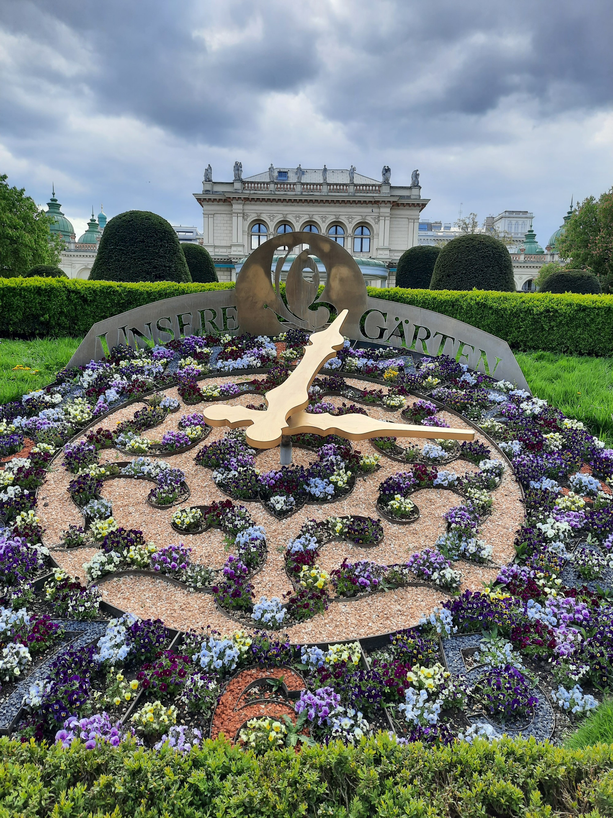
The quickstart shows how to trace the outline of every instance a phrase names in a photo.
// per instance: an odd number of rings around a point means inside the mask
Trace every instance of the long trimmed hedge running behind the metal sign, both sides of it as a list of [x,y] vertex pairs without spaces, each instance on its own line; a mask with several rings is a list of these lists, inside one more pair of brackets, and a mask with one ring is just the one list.
[[[175,295],[223,290],[222,284],[121,284],[51,278],[0,278],[0,335],[85,335],[96,321]],[[392,290],[369,295],[413,304],[498,335],[513,349],[578,355],[613,353],[613,295]]]

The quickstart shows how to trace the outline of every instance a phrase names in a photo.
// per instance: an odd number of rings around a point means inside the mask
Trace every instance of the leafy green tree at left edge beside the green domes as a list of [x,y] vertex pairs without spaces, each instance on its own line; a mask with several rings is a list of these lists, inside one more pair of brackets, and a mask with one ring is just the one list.
[[21,276],[36,264],[60,261],[64,241],[51,233],[47,214],[24,188],[9,187],[0,176],[0,276]]

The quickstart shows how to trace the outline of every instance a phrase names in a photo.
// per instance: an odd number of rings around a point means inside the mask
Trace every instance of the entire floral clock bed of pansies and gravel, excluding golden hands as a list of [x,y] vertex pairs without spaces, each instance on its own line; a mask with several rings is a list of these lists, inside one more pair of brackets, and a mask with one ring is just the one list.
[[397,349],[347,345],[309,411],[463,423],[474,443],[408,442],[400,464],[394,440],[300,435],[280,466],[190,406],[246,405],[305,341],[114,348],[0,408],[2,451],[36,444],[0,470],[16,735],[189,752],[224,731],[256,753],[380,729],[558,740],[610,690],[613,452],[512,384]]

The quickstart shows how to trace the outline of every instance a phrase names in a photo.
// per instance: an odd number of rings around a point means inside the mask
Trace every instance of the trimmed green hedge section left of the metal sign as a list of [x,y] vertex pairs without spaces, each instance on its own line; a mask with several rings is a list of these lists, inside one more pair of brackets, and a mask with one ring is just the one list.
[[80,281],[76,278],[0,279],[0,334],[73,338],[85,335],[96,321],[175,295],[203,290],[230,290],[234,283],[175,284],[172,281]]

